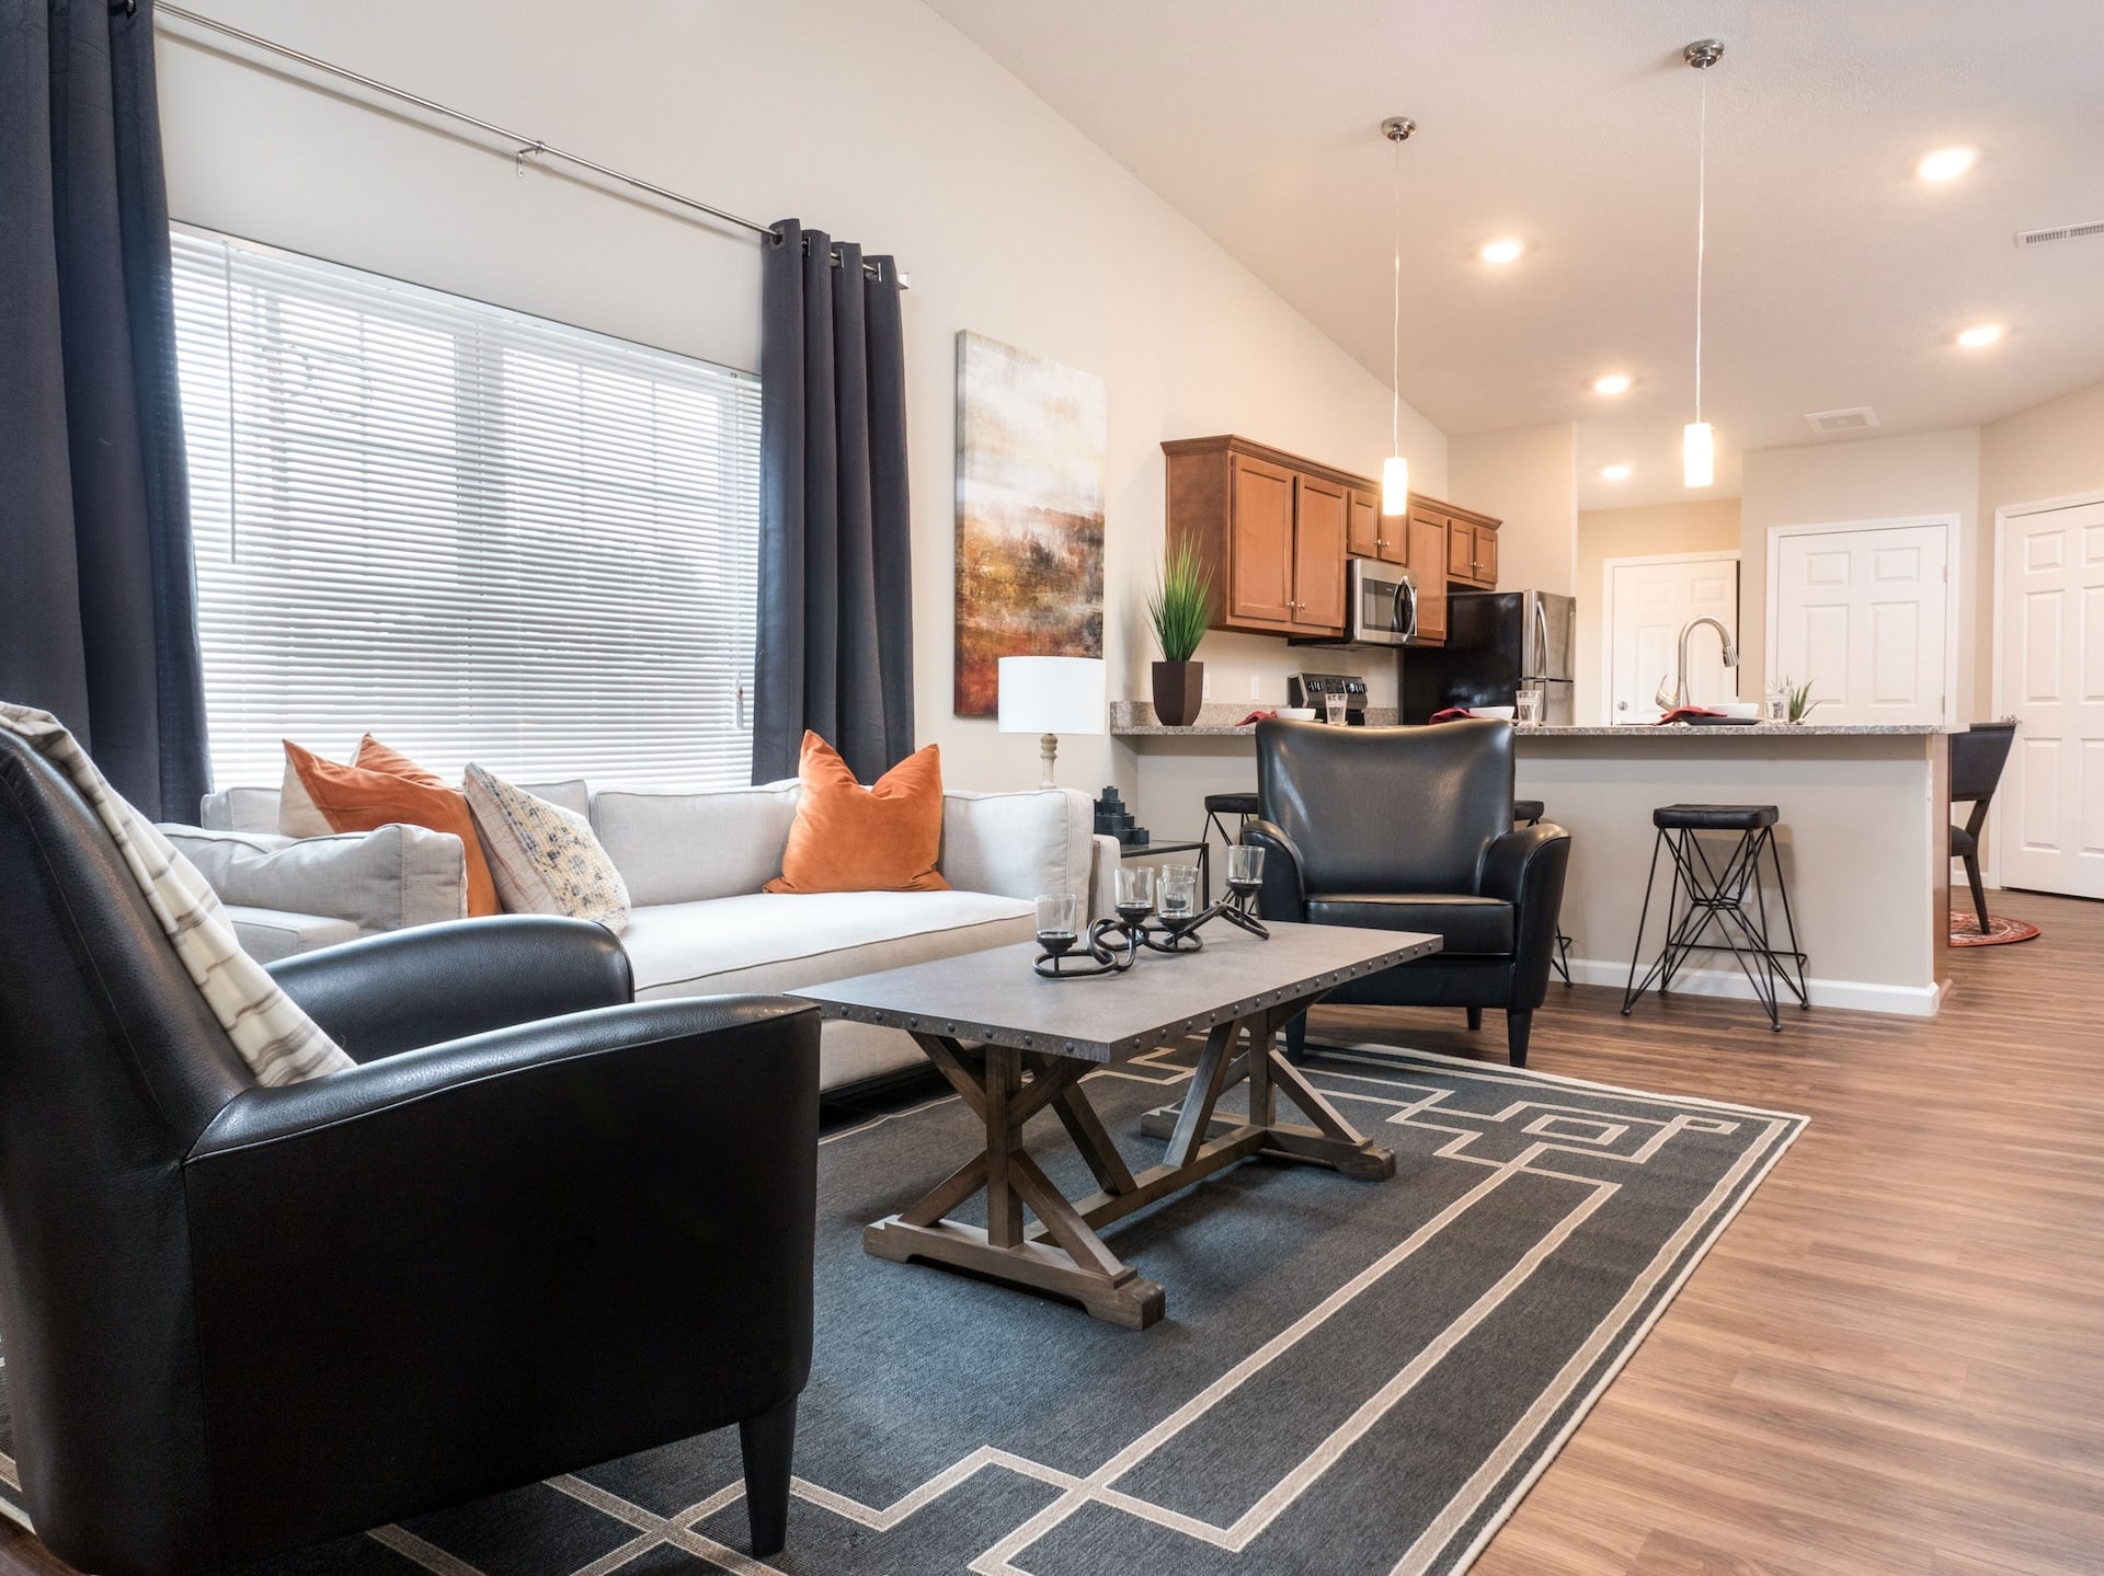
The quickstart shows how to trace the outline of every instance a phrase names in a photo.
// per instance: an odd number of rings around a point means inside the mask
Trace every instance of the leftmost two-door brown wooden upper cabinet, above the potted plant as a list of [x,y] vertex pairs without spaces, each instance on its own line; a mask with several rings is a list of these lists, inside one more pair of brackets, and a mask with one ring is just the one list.
[[1168,534],[1212,570],[1212,627],[1342,635],[1344,558],[1365,528],[1353,501],[1376,497],[1372,482],[1248,438],[1178,438],[1161,452]]

